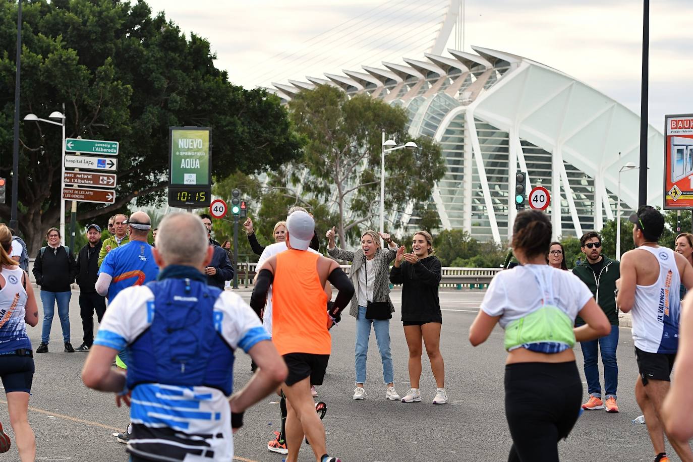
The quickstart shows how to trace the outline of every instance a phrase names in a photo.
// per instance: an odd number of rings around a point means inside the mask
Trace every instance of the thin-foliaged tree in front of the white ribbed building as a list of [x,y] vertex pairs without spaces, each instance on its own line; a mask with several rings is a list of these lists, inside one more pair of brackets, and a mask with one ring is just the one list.
[[[300,185],[301,195],[334,204],[342,243],[360,225],[376,227],[382,133],[398,143],[409,140],[405,109],[366,94],[349,98],[329,85],[301,91],[288,106],[297,132],[306,140],[305,154],[277,177],[274,186]],[[385,159],[387,211],[426,201],[445,173],[439,146],[426,137],[414,141],[420,148],[416,152],[396,150]]]

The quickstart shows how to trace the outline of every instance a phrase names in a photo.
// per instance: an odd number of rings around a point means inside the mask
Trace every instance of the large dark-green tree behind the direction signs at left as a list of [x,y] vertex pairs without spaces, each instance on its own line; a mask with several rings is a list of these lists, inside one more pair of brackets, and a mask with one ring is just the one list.
[[[0,0],[2,152],[12,152],[15,3]],[[279,98],[231,85],[207,40],[186,38],[143,1],[35,0],[24,3],[23,24],[21,114],[45,118],[64,104],[68,137],[120,142],[115,204],[80,203],[78,220],[105,221],[135,197],[138,206],[163,199],[170,126],[212,127],[219,178],[299,156],[301,139]],[[25,122],[20,142],[19,227],[33,251],[60,220],[60,130]],[[3,176],[9,170],[9,162],[0,167]],[[9,206],[0,206],[0,216],[9,215]]]

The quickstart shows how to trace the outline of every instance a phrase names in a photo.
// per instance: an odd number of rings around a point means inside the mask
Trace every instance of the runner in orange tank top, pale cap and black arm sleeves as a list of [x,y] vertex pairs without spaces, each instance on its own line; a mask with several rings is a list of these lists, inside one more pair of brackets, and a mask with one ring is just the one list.
[[[272,285],[272,341],[289,368],[281,386],[286,395],[286,462],[298,460],[304,436],[317,462],[340,462],[328,456],[325,428],[315,413],[310,384],[321,385],[331,350],[329,329],[353,296],[353,285],[337,262],[307,252],[315,231],[313,218],[296,211],[286,220],[286,245],[258,268],[250,305],[258,312]],[[339,290],[330,312],[324,292],[326,281]]]

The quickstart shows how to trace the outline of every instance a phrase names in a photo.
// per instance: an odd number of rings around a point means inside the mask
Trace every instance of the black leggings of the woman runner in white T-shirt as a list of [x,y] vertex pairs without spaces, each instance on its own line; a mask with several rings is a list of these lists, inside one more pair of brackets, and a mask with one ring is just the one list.
[[575,425],[581,399],[574,361],[505,366],[505,416],[513,437],[508,462],[558,461],[558,441]]

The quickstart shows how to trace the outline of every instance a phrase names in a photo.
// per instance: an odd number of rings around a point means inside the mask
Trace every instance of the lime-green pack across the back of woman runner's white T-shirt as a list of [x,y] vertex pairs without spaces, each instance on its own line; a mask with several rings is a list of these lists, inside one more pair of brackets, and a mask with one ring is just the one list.
[[563,311],[552,305],[544,305],[505,326],[505,349],[511,350],[524,344],[551,342],[575,344],[572,320]]

